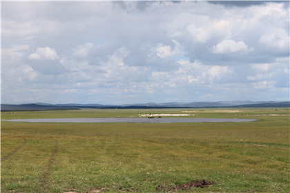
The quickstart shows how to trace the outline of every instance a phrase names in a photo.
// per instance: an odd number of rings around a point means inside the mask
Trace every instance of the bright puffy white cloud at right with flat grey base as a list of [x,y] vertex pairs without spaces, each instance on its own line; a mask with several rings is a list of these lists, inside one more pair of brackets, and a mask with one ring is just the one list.
[[213,54],[227,54],[227,53],[233,53],[233,52],[251,52],[253,51],[253,48],[248,48],[248,46],[244,43],[244,41],[238,41],[235,42],[231,39],[226,39],[224,41],[221,41],[217,45],[214,45],[211,48],[211,52]]

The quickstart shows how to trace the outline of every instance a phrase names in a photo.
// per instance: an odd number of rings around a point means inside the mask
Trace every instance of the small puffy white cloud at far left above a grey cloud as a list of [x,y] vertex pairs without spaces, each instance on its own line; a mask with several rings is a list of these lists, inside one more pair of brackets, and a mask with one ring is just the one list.
[[51,49],[48,47],[45,48],[37,48],[35,53],[29,55],[28,59],[30,60],[57,60],[59,56],[55,49]]

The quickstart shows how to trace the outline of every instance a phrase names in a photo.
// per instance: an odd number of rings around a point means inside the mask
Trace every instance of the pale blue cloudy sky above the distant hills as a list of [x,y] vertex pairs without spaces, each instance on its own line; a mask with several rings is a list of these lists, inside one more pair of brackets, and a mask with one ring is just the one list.
[[1,2],[1,103],[289,101],[289,1]]

